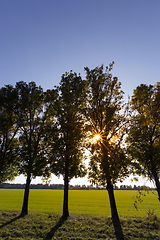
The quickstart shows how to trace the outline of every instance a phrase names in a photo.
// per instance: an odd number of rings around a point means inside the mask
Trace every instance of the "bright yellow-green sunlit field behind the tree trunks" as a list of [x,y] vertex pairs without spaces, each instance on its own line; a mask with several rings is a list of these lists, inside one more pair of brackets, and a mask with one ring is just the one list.
[[[24,190],[0,189],[0,210],[20,211]],[[115,197],[120,217],[147,217],[154,213],[160,217],[160,204],[157,195],[150,192],[138,203],[138,211],[134,208],[137,191],[116,190]],[[30,190],[30,212],[62,213],[63,190]],[[108,193],[105,190],[70,190],[70,214],[88,214],[110,216]]]

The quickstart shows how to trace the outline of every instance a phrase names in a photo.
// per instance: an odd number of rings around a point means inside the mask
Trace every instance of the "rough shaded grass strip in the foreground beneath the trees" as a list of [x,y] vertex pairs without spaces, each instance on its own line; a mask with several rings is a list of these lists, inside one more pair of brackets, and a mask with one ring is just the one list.
[[[110,217],[72,214],[67,220],[58,213],[0,211],[0,239],[116,239]],[[125,240],[160,239],[160,219],[120,218]]]

